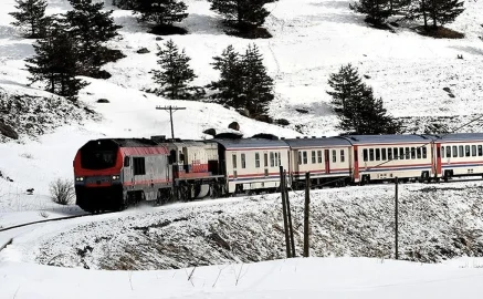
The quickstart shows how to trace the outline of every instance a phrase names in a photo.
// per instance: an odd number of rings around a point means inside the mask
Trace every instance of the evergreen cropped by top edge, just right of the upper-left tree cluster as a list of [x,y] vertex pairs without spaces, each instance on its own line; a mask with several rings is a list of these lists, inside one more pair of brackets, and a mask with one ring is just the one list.
[[154,22],[157,25],[172,25],[188,17],[187,6],[177,0],[136,0],[134,4],[140,21]]

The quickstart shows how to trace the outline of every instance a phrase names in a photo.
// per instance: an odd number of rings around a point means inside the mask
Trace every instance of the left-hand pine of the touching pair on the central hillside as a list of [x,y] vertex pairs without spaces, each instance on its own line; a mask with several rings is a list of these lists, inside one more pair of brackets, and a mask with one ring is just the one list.
[[211,90],[218,90],[213,97],[232,107],[244,107],[244,102],[241,99],[243,82],[241,80],[240,54],[230,44],[223,50],[221,56],[214,56],[213,60],[213,69],[220,71],[220,80],[211,82],[209,85]]

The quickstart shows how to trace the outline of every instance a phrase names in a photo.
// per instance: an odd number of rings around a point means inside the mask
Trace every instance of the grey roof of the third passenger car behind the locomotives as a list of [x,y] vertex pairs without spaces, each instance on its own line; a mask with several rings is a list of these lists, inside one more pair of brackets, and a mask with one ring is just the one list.
[[400,135],[345,135],[351,144],[395,144],[431,142],[430,135],[400,134]]

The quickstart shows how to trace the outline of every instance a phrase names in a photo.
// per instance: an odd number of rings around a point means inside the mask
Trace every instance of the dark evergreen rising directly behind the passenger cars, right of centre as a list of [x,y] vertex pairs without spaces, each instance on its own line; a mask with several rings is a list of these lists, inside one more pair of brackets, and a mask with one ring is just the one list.
[[400,123],[387,115],[381,99],[375,99],[372,89],[361,82],[357,69],[350,64],[330,74],[327,92],[333,96],[334,111],[340,120],[338,127],[355,134],[396,134]]

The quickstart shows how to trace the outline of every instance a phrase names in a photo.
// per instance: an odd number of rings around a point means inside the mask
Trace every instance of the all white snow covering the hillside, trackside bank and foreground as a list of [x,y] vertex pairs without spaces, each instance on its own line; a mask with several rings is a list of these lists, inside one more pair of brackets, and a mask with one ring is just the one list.
[[[67,0],[48,2],[49,13],[62,13],[70,9]],[[187,0],[190,16],[180,25],[188,29],[190,34],[169,39],[179,48],[185,48],[191,56],[191,66],[198,74],[195,84],[204,85],[217,80],[218,72],[210,65],[212,56],[219,55],[229,44],[242,52],[254,42],[264,55],[269,74],[275,80],[276,96],[269,113],[275,118],[287,118],[291,122],[287,127],[259,123],[218,104],[168,101],[143,92],[153,84],[148,72],[156,65],[157,45],[168,38],[156,41],[156,37],[146,33],[146,27],[138,23],[130,11],[119,10],[111,2],[105,1],[106,8],[114,9],[116,22],[124,25],[122,39],[111,42],[111,45],[127,56],[104,66],[113,74],[111,79],[85,79],[91,84],[81,91],[82,106],[72,109],[71,114],[65,113],[57,120],[51,115],[49,123],[42,124],[43,134],[32,136],[31,132],[23,130],[20,131],[19,142],[0,143],[0,172],[3,176],[0,177],[0,227],[82,214],[73,205],[62,207],[53,204],[49,197],[49,184],[57,177],[72,177],[72,159],[77,148],[88,140],[169,136],[169,114],[156,110],[157,105],[187,107],[175,114],[176,136],[182,138],[209,138],[202,134],[203,130],[213,127],[217,132],[228,131],[228,124],[233,121],[240,123],[245,136],[261,132],[284,137],[302,133],[334,135],[339,132],[335,128],[336,117],[326,94],[327,79],[342,64],[353,63],[366,76],[365,82],[374,87],[375,94],[384,99],[388,112],[405,118],[410,130],[420,131],[434,120],[449,122],[450,128],[458,127],[483,113],[483,43],[479,38],[482,35],[481,1],[466,1],[465,12],[448,25],[463,32],[464,39],[434,40],[414,33],[410,29],[414,23],[396,28],[396,33],[371,29],[364,23],[363,16],[348,9],[349,1],[280,0],[267,6],[271,14],[265,27],[274,38],[253,41],[224,34],[220,17],[209,10],[207,1]],[[14,10],[13,6],[14,0],[0,2],[0,92],[28,94],[39,101],[50,99],[52,95],[39,90],[39,85],[27,85],[29,74],[23,60],[33,54],[33,41],[22,39],[10,25],[13,19],[8,12]],[[147,48],[150,53],[136,53],[139,48]],[[458,54],[463,54],[464,59],[456,59]],[[443,87],[450,87],[455,97],[450,97]],[[98,99],[108,99],[111,103],[97,103]],[[63,105],[67,106],[65,103]],[[85,114],[83,105],[98,115]],[[303,114],[295,109],[305,109],[308,113]],[[22,117],[19,122],[21,126],[27,124]],[[482,126],[483,122],[477,122],[462,131],[481,132]],[[7,181],[7,177],[13,182]],[[433,251],[422,250],[421,254],[432,260],[429,254],[435,251],[429,241],[430,237],[435,236],[440,244],[454,249],[451,237],[459,236],[461,231],[477,236],[482,229],[483,209],[477,200],[481,198],[481,183],[454,184],[451,185],[454,189],[443,186],[432,190],[416,184],[408,186],[406,194],[402,190],[401,198],[412,204],[406,209],[402,206],[402,215],[411,221],[403,221],[401,227],[412,235],[402,235],[401,251],[406,254],[406,249],[429,248]],[[28,188],[34,188],[33,195],[27,194]],[[88,216],[0,233],[0,248],[13,238],[13,244],[0,252],[0,298],[105,298],[106,295],[118,298],[481,297],[481,259],[462,257],[444,260],[443,265],[426,265],[347,257],[375,256],[363,249],[380,247],[380,250],[386,250],[382,256],[390,258],[391,186],[313,194],[319,198],[314,202],[319,209],[314,212],[315,215],[319,213],[317,217],[321,221],[314,226],[318,236],[314,243],[314,255],[326,258],[281,259],[283,245],[280,244],[281,221],[276,214],[276,195],[207,200],[191,203],[189,207],[174,204],[157,208],[132,208],[120,215]],[[300,212],[302,195],[293,196],[294,208]],[[452,207],[451,210],[439,205],[440,197]],[[418,204],[417,198],[427,198],[427,203]],[[328,212],[324,212],[325,208],[329,208]],[[222,210],[222,216],[217,214],[219,210]],[[263,212],[269,213],[270,217]],[[143,229],[133,234],[129,230],[132,227],[158,224],[160,219],[175,220],[187,215],[192,218],[177,221],[174,227],[179,228],[180,234],[177,236],[171,231],[171,238],[183,238],[187,246],[191,246],[189,243],[192,241],[193,246],[206,250],[195,228],[199,228],[201,236],[207,236],[210,226],[222,220],[224,215],[231,215],[231,218],[242,215],[244,218],[241,220],[244,221],[239,225],[246,225],[249,230],[240,241],[252,240],[251,234],[275,231],[272,236],[253,241],[265,246],[263,250],[266,250],[259,252],[256,258],[266,258],[267,254],[275,252],[272,258],[279,259],[246,264],[249,259],[241,258],[241,255],[228,256],[216,259],[220,261],[219,266],[197,268],[190,280],[188,276],[192,268],[154,271],[78,269],[85,265],[101,269],[99,258],[111,257],[106,251],[111,244],[113,252],[119,254],[122,246],[130,241],[127,236],[143,237]],[[434,215],[440,218],[434,220]],[[254,221],[253,217],[260,220]],[[332,221],[324,223],[327,219]],[[340,227],[343,220],[354,230],[338,230],[336,227]],[[86,231],[86,228],[92,231]],[[122,228],[129,233],[120,234]],[[155,235],[165,231],[156,227],[148,230],[155,231]],[[351,243],[350,234],[359,233],[375,236],[366,238],[370,240],[366,247],[360,244],[356,246]],[[106,235],[118,238],[103,239]],[[88,255],[85,246],[95,244],[95,237],[99,238],[102,246]],[[237,239],[240,236],[231,237]],[[232,240],[229,235],[223,235],[223,238]],[[332,243],[327,243],[327,238]],[[325,247],[324,243],[327,244]],[[475,243],[480,244],[481,240],[476,238]],[[78,256],[77,249],[87,250],[83,261],[75,258]],[[470,251],[454,250],[455,256],[476,252],[475,248]],[[330,258],[334,252],[342,258]],[[56,258],[53,264],[76,268],[36,265],[49,264],[46,257],[60,254],[66,257]],[[112,256],[113,260],[119,257],[122,255]],[[439,258],[434,260],[441,261]],[[136,267],[143,268],[141,262],[137,262]],[[182,262],[180,267],[190,265]],[[165,266],[159,268],[169,268]],[[241,278],[237,283],[239,274]]]

